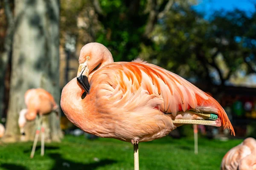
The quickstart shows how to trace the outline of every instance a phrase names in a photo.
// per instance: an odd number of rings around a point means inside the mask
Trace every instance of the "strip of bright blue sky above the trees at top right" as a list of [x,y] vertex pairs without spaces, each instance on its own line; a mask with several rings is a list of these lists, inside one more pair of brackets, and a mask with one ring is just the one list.
[[238,8],[247,11],[248,14],[255,11],[254,3],[256,0],[198,0],[199,4],[194,8],[197,11],[204,12],[206,18],[210,17],[214,11],[224,9],[232,11]]

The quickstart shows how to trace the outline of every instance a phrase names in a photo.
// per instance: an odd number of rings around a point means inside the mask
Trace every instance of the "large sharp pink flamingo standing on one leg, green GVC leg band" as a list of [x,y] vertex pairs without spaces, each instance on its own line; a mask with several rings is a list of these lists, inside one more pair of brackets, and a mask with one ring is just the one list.
[[87,133],[131,142],[136,170],[139,142],[183,124],[222,125],[235,134],[221,105],[190,82],[141,59],[113,62],[96,42],[81,48],[77,77],[63,88],[61,108]]

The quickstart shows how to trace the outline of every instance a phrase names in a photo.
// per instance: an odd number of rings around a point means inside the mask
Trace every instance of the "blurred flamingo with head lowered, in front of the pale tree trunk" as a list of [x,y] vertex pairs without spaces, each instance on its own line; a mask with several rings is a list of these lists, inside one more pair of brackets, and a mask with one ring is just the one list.
[[[20,127],[20,134],[22,137],[25,135],[24,127],[26,121],[36,119],[37,130],[31,151],[30,157],[34,157],[35,147],[38,141],[38,136],[41,131],[41,156],[44,156],[44,127],[42,126],[42,116],[54,111],[58,116],[58,105],[56,104],[53,96],[42,88],[32,88],[25,93],[26,109],[20,111],[18,124]],[[39,116],[39,118],[38,118]]]

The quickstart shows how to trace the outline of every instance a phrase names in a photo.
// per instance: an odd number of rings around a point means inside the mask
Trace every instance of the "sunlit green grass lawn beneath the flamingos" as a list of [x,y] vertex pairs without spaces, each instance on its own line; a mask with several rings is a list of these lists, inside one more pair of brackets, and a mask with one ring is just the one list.
[[[242,140],[221,142],[199,139],[198,155],[193,139],[165,137],[140,143],[140,170],[218,170],[221,159]],[[39,144],[39,143],[38,143]],[[115,139],[87,140],[65,136],[61,143],[46,144],[44,157],[38,145],[30,159],[32,142],[2,144],[1,170],[132,170],[133,146]],[[68,164],[70,167],[67,167]]]

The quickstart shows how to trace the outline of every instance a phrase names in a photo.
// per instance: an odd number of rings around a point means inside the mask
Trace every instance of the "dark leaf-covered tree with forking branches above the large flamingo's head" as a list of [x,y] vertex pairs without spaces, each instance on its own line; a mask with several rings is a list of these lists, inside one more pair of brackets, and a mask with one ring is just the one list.
[[152,46],[151,33],[176,3],[196,0],[91,0],[102,24],[96,41],[110,48],[115,61],[131,61],[141,45]]

